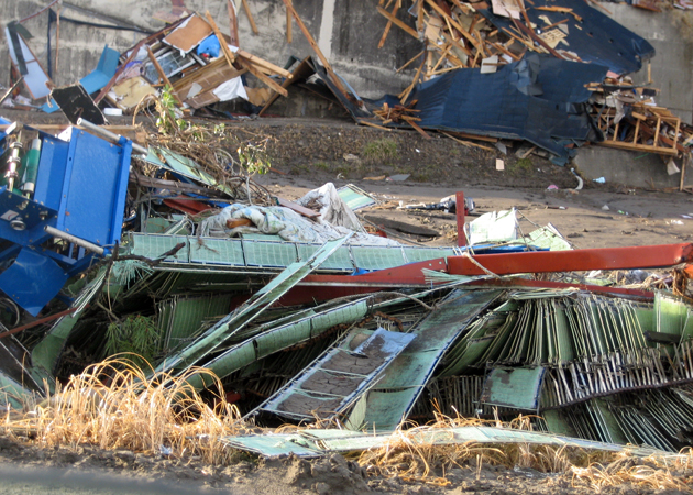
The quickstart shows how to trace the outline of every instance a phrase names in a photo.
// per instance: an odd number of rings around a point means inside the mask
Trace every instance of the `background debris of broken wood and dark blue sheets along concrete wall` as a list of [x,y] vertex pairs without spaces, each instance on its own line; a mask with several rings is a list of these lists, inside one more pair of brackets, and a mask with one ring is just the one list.
[[[407,88],[377,100],[361,98],[336,73],[292,1],[283,2],[287,42],[296,24],[315,57],[290,57],[280,66],[241,48],[231,1],[230,34],[209,12],[178,8],[175,15],[160,13],[169,22],[165,29],[122,54],[105,47],[97,68],[78,86],[48,95],[51,79],[26,44],[30,33],[22,21],[8,25],[6,36],[18,84],[21,77],[36,101],[48,97],[44,111],[62,108],[68,118],[74,114],[73,123],[77,117],[106,122],[98,108],[84,114],[95,107],[88,95],[101,107],[129,113],[153,105],[161,87],[168,86],[184,112],[227,119],[233,116],[223,101],[245,100],[249,113],[263,116],[296,85],[341,105],[362,125],[414,129],[426,138],[440,132],[487,148],[501,140],[527,141],[527,154],[560,165],[586,143],[659,154],[669,173],[681,173],[679,189],[686,190],[693,128],[657,105],[648,62],[654,48],[603,13],[598,2],[381,0],[376,11],[386,25],[378,48],[387,45],[393,29],[422,46],[397,69],[414,73]],[[248,1],[243,7],[257,33]],[[648,82],[632,84],[629,74],[645,63]]]

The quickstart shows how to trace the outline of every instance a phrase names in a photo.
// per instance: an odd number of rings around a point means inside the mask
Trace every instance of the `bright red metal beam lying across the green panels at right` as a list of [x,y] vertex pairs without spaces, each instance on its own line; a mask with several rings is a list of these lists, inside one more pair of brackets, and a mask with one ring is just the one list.
[[[480,254],[474,256],[474,260],[496,275],[659,268],[692,261],[693,244]],[[451,256],[448,257],[448,273],[454,275],[484,275],[485,272],[466,256]]]

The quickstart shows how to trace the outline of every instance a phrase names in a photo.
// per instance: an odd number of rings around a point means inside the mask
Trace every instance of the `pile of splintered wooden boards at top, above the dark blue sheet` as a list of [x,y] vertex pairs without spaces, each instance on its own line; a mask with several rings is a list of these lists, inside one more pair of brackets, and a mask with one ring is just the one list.
[[[558,22],[544,21],[546,25],[535,25],[527,16],[527,9],[535,9],[522,0],[487,0],[486,2],[466,3],[460,0],[413,0],[411,8],[402,6],[403,0],[380,2],[377,12],[387,19],[387,25],[378,47],[385,44],[393,25],[426,43],[422,68],[417,73],[411,86],[421,80],[429,80],[440,74],[457,68],[481,67],[484,61],[497,57],[497,66],[519,61],[525,52],[550,53],[559,58],[580,61],[568,51],[566,37],[562,24],[572,16],[582,19],[572,9],[547,7],[536,8],[564,14],[566,19]],[[387,10],[389,6],[392,10]],[[509,29],[495,29],[476,9],[493,8],[496,15],[508,18]],[[408,11],[415,15],[415,26],[397,16],[398,12]],[[405,18],[406,19],[406,18]],[[548,20],[548,18],[544,19]],[[416,28],[416,29],[415,29]],[[544,34],[537,34],[540,29]],[[409,61],[408,66],[414,61]],[[402,70],[405,66],[400,67]]]

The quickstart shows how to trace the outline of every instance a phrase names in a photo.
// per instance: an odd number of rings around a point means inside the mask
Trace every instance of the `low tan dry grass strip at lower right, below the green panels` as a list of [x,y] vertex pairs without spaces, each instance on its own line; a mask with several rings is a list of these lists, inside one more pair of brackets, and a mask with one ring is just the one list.
[[529,417],[518,417],[512,422],[488,421],[474,418],[449,418],[436,415],[436,421],[408,430],[397,430],[388,442],[364,451],[359,463],[370,472],[409,482],[446,485],[444,473],[454,468],[470,469],[481,475],[484,464],[508,469],[532,469],[542,473],[562,473],[572,476],[573,486],[601,491],[608,486],[636,485],[649,490],[679,490],[693,492],[681,473],[693,466],[693,451],[681,455],[640,459],[624,451],[586,451],[572,447],[551,447],[526,443],[460,444],[422,443],[416,437],[421,431],[465,426],[491,426],[509,429],[530,428]]

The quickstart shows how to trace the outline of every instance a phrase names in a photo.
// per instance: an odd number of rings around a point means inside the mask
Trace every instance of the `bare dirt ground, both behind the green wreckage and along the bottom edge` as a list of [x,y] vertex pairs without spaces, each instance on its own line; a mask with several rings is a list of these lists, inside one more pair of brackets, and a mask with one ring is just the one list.
[[[24,123],[64,123],[62,117],[0,111]],[[130,123],[131,120],[113,122]],[[570,168],[536,155],[518,158],[493,143],[462,144],[436,135],[426,140],[409,132],[359,128],[351,122],[261,119],[229,121],[229,132],[270,136],[273,172],[256,176],[273,194],[295,199],[327,182],[354,184],[381,205],[360,213],[432,229],[438,237],[404,235],[424,245],[454,245],[455,219],[443,211],[414,212],[398,206],[438,202],[463,191],[473,198],[475,215],[517,208],[520,228],[552,223],[578,249],[650,245],[693,240],[693,196],[631,188],[628,185],[585,183],[582,190]],[[393,144],[394,143],[394,144]],[[512,146],[512,143],[507,143]],[[481,146],[491,147],[486,150]],[[505,169],[496,169],[496,160]],[[579,172],[579,170],[578,170]],[[409,174],[404,182],[365,177]],[[549,186],[557,189],[548,189]],[[690,217],[690,218],[685,218]],[[473,220],[474,217],[468,218]],[[397,232],[395,232],[397,233]],[[264,461],[239,454],[229,466],[204,465],[199,460],[167,459],[130,451],[101,451],[90,446],[40,449],[21,439],[0,437],[0,494],[28,493],[232,493],[255,494],[582,494],[590,486],[572,486],[570,474],[462,466],[447,473],[450,484],[437,487],[387,480],[366,473],[341,455],[319,461]],[[690,473],[681,473],[682,476]],[[636,485],[602,493],[672,493]]]

